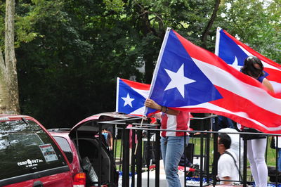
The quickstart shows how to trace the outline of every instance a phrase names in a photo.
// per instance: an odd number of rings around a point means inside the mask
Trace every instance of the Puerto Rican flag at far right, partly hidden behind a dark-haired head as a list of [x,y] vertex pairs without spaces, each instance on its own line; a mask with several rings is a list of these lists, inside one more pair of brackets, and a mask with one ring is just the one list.
[[244,65],[248,56],[258,57],[263,63],[266,78],[273,85],[275,93],[281,96],[281,65],[262,56],[220,27],[216,30],[215,54],[237,70]]

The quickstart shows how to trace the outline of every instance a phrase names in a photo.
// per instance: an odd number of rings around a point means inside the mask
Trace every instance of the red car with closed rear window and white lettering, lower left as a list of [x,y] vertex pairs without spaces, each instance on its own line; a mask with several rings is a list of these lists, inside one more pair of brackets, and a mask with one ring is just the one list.
[[[0,115],[0,186],[76,186],[65,154],[33,117]],[[81,175],[80,175],[81,176]],[[75,176],[83,181],[85,175]],[[85,180],[84,180],[85,181]]]

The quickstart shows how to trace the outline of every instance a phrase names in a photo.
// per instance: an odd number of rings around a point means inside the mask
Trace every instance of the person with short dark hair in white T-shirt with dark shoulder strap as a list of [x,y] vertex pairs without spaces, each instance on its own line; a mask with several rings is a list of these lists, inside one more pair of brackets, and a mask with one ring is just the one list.
[[239,180],[239,169],[237,167],[237,157],[230,150],[231,138],[228,134],[218,134],[218,153],[221,157],[218,159],[218,178],[221,184],[232,184],[231,181]]

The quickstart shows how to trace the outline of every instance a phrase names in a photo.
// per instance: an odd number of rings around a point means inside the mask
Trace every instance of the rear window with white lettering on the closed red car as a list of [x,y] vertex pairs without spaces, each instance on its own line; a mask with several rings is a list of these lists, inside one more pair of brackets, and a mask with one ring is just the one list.
[[0,180],[66,164],[46,132],[32,120],[0,122]]

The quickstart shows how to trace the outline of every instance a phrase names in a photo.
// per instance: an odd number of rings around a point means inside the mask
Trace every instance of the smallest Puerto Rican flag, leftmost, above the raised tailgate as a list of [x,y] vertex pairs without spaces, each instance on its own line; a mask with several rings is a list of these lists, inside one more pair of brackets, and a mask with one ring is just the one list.
[[150,84],[142,84],[117,78],[116,112],[143,115],[145,99],[148,98]]

